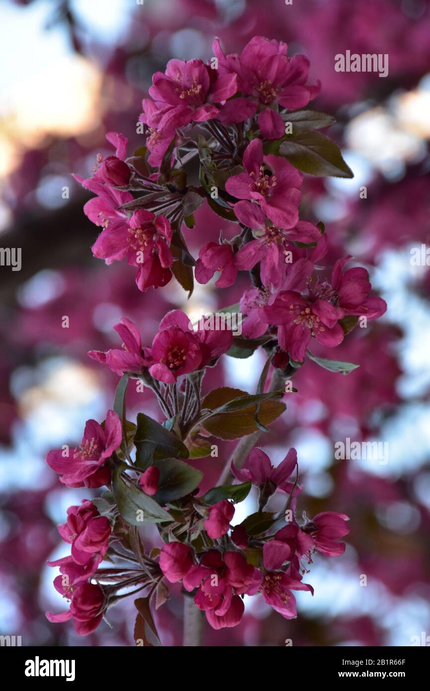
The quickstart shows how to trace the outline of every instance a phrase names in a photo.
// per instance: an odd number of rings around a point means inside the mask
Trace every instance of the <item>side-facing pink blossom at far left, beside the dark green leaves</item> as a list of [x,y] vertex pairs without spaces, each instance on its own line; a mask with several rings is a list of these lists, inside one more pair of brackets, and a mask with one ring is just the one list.
[[121,446],[121,441],[121,421],[117,413],[108,410],[104,428],[95,420],[88,420],[80,448],[50,451],[46,462],[68,487],[101,487],[110,480],[106,460]]

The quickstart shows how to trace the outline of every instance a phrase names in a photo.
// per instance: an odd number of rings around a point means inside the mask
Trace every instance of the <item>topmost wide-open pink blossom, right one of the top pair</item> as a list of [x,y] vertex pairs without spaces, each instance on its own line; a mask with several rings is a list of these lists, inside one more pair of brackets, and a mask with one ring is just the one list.
[[242,122],[258,112],[263,137],[280,138],[285,126],[276,104],[294,111],[306,106],[320,91],[320,82],[306,86],[309,59],[304,55],[288,57],[284,41],[254,36],[239,56],[224,55],[219,39],[215,39],[213,51],[219,73],[237,75],[237,88],[242,94],[221,109],[219,120],[224,124]]

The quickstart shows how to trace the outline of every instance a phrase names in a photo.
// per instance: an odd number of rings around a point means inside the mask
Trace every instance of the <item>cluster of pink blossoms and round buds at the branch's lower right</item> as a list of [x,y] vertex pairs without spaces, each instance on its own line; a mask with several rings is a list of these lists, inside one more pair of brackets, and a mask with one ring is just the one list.
[[[260,486],[260,491],[270,484],[269,495],[276,489],[293,493],[293,485],[286,480],[296,464],[295,449],[289,451],[277,468],[273,468],[261,449],[255,449],[248,457],[247,467],[235,473],[240,480],[251,480]],[[295,499],[291,499],[294,503]],[[253,537],[242,525],[231,527],[234,513],[234,506],[228,500],[221,500],[209,509],[204,528],[214,546],[203,554],[183,542],[164,545],[159,560],[164,576],[170,583],[182,581],[188,592],[195,591],[195,605],[205,612],[214,629],[239,624],[244,614],[243,596],[258,593],[286,619],[294,618],[297,610],[292,591],[307,590],[313,594],[313,587],[302,581],[306,569],[302,569],[301,561],[311,563],[315,551],[325,556],[344,553],[344,542],[339,540],[349,532],[348,516],[326,511],[312,520],[305,519],[302,526],[293,518],[273,535]],[[220,541],[228,536],[231,528],[231,537]],[[259,551],[259,567],[246,561],[247,547]]]

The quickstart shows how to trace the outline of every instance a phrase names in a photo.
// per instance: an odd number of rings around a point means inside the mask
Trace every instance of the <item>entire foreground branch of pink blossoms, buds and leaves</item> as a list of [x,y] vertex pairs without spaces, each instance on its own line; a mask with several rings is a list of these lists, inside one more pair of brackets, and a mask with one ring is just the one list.
[[[300,133],[315,136],[315,127],[328,122],[324,114],[300,110],[320,91],[319,82],[306,83],[308,59],[289,57],[284,42],[263,37],[251,39],[240,55],[225,55],[215,40],[213,52],[210,64],[173,59],[165,73],[155,73],[140,116],[145,146],[127,156],[128,140],[110,132],[115,155],[99,156],[92,177],[75,176],[95,193],[84,207],[102,228],[93,255],[107,264],[126,260],[137,269],[142,292],[164,287],[173,276],[188,294],[194,280],[205,284],[215,273],[219,288],[234,285],[239,272],[248,272],[250,280],[235,308],[244,315],[240,339],[231,330],[208,327],[204,317],[195,328],[185,312],[173,310],[152,343],[144,345],[137,325],[124,317],[114,326],[121,347],[88,353],[121,377],[114,409],[101,424],[87,422],[80,448],[63,446],[47,456],[66,486],[107,488],[96,504],[69,509],[59,530],[71,555],[52,562],[62,574],[55,587],[71,604],[67,613],[48,618],[74,618],[80,634],[94,630],[110,605],[131,594],[130,587],[148,589],[148,599],[162,605],[168,596],[164,579],[182,582],[214,629],[237,625],[244,595],[257,593],[294,618],[292,591],[313,593],[303,582],[305,564],[316,551],[344,551],[339,540],[348,533],[346,515],[328,511],[297,519],[302,486],[294,449],[273,467],[261,448],[244,463],[239,445],[222,474],[239,484],[220,480],[206,493],[199,489],[203,473],[186,463],[210,455],[210,435],[231,440],[267,433],[266,425],[285,410],[280,386],[307,354],[313,357],[311,339],[335,348],[360,317],[375,319],[386,310],[371,294],[367,269],[346,267],[352,256],[338,258],[331,273],[321,266],[328,250],[324,225],[300,218],[303,173],[333,174],[313,168],[312,158],[300,170],[291,155]],[[338,147],[317,136],[331,151],[328,170],[337,161],[338,174],[351,177]],[[236,223],[238,233],[226,240],[221,231],[216,243],[205,241],[202,229],[195,258],[186,229],[204,202],[220,219]],[[248,357],[260,345],[268,360],[255,394],[229,387],[202,394],[206,369],[219,357]],[[333,371],[350,365],[333,364]],[[266,384],[269,371],[280,385]],[[136,424],[127,420],[130,379],[153,392],[161,424],[145,413]],[[242,426],[235,425],[235,413]],[[258,510],[232,525],[235,504],[252,485],[259,491]],[[284,509],[265,510],[277,491],[285,496]],[[161,549],[145,553],[141,522],[157,524]],[[119,565],[100,568],[106,554]],[[136,607],[138,619],[147,616]]]

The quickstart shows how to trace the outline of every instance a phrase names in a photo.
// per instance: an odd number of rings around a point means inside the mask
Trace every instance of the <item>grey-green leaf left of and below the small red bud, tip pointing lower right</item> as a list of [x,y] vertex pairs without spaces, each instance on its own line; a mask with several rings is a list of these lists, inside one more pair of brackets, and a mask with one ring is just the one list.
[[135,484],[126,484],[121,477],[126,464],[119,464],[113,473],[113,495],[117,508],[122,518],[130,525],[143,523],[160,523],[171,521],[172,517],[167,511],[157,504],[153,498],[148,497]]

